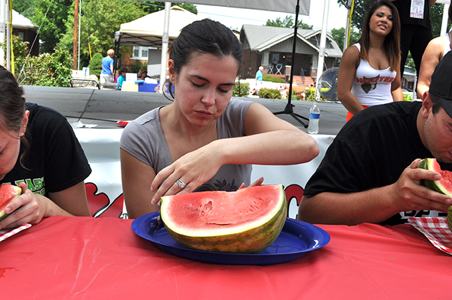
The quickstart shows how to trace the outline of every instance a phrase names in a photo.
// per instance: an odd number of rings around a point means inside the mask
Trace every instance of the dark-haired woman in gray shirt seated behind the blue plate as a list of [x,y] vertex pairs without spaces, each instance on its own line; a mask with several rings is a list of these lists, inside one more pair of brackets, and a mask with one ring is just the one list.
[[263,105],[231,100],[243,50],[223,24],[189,24],[168,52],[174,102],[130,122],[121,137],[130,218],[158,211],[163,195],[249,186],[250,165],[305,163],[318,155],[312,137]]

